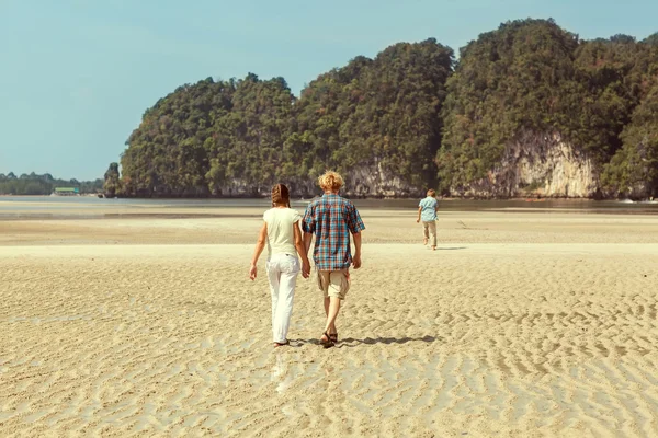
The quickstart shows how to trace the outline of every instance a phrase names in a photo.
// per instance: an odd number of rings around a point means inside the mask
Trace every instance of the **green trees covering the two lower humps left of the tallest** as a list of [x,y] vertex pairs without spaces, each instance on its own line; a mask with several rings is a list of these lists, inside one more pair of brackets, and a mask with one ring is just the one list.
[[283,78],[206,79],[144,114],[122,157],[124,192],[264,192],[327,168],[375,166],[422,187],[435,178],[453,53],[428,39],[359,57],[291,93]]

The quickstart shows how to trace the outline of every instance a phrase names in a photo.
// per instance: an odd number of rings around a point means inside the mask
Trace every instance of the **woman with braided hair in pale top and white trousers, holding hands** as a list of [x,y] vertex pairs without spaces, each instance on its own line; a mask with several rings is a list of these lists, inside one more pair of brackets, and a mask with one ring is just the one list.
[[310,263],[299,229],[299,214],[291,208],[288,189],[283,184],[272,188],[272,208],[263,215],[264,223],[260,230],[256,251],[251,258],[249,278],[257,276],[258,258],[265,244],[268,245],[268,263],[265,268],[272,292],[272,335],[274,347],[288,345],[287,331],[293,313],[293,299],[295,298],[295,284],[299,274],[299,260],[302,257],[302,275],[308,278]]

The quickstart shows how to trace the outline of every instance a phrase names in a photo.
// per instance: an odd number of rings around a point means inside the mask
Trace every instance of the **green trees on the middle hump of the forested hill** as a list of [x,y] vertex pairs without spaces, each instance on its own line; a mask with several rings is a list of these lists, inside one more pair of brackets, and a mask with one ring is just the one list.
[[304,169],[317,174],[327,166],[375,166],[418,187],[431,184],[452,64],[452,49],[427,39],[320,76],[295,111],[295,140],[308,139],[310,157],[317,157]]

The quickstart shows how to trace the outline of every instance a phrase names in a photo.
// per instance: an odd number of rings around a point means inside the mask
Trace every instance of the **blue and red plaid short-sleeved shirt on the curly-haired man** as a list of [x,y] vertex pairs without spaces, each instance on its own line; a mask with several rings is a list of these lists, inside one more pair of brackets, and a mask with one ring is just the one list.
[[313,260],[319,270],[339,270],[352,264],[350,232],[365,230],[354,205],[338,195],[325,195],[306,208],[302,229],[316,235]]

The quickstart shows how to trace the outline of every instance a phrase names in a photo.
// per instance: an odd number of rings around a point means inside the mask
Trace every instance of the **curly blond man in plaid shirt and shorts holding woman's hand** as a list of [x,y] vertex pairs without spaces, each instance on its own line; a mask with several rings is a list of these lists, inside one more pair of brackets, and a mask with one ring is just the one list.
[[[338,195],[343,185],[336,172],[327,172],[318,178],[325,196],[313,200],[306,208],[302,229],[306,251],[316,237],[313,258],[318,274],[318,287],[325,293],[327,323],[320,344],[325,348],[338,342],[336,318],[340,303],[350,289],[350,265],[361,267],[361,231],[365,229],[356,207]],[[354,255],[350,247],[350,233],[354,240]]]

